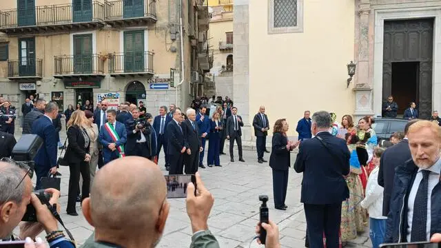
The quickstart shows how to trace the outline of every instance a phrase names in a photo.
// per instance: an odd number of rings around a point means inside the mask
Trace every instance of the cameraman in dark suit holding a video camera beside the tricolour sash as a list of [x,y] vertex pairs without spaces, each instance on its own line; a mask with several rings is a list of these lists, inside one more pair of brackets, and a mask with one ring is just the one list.
[[132,116],[133,120],[125,123],[127,128],[125,154],[151,159],[155,154],[155,151],[152,151],[152,126],[145,119],[139,118],[138,108],[132,110]]

